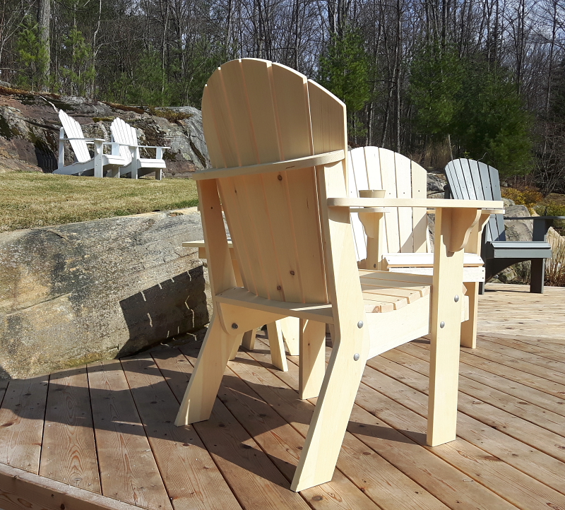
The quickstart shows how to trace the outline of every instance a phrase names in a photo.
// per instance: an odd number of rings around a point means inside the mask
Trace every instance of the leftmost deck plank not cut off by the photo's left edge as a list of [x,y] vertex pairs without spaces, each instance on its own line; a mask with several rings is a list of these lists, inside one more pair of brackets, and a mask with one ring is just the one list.
[[49,378],[39,474],[101,493],[86,367]]

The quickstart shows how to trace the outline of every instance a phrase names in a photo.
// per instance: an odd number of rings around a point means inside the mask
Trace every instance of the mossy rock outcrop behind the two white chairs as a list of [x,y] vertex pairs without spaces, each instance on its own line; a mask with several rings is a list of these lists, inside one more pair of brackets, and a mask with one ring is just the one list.
[[[57,168],[59,129],[57,109],[76,119],[87,137],[109,141],[109,126],[121,117],[137,129],[142,145],[168,146],[165,177],[189,177],[210,166],[200,110],[184,107],[148,109],[125,107],[85,97],[23,93],[0,87],[0,172]],[[66,146],[66,162],[73,162]],[[155,152],[148,152],[154,157]]]

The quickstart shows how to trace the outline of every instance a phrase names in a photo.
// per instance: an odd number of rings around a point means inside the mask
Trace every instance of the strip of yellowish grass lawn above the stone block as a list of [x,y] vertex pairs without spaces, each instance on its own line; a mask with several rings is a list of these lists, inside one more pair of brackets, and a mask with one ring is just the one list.
[[0,232],[196,206],[191,179],[0,174]]

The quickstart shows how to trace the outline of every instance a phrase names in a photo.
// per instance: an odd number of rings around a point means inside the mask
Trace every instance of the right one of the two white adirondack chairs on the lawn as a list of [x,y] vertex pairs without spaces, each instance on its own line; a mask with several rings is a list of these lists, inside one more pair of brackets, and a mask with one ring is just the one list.
[[[137,139],[136,129],[127,124],[119,117],[116,117],[110,124],[112,131],[112,141],[118,142],[119,153],[125,160],[125,165],[121,167],[119,175],[131,174],[132,179],[137,179],[143,175],[155,172],[155,179],[162,179],[162,171],[167,167],[163,159],[163,150],[170,147],[160,146],[140,146]],[[155,149],[155,159],[141,158],[140,149]]]

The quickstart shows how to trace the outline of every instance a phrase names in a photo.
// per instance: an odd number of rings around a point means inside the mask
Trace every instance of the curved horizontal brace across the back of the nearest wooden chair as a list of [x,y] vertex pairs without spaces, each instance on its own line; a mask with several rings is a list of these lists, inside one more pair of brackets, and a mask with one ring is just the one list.
[[299,170],[301,168],[318,167],[329,165],[345,159],[343,150],[333,150],[331,153],[316,154],[296,158],[295,160],[274,161],[271,163],[260,163],[258,165],[248,165],[245,167],[232,168],[210,168],[200,170],[192,174],[195,181],[204,179],[220,179],[222,177],[236,177],[237,175],[266,174],[269,172],[286,172],[287,170]]

